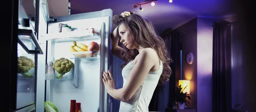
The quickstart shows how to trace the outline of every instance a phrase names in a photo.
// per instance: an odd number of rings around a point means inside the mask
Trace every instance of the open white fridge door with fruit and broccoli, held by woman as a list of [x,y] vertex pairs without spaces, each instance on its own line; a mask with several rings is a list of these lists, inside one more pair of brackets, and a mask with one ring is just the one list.
[[[71,100],[80,103],[85,112],[109,112],[102,72],[110,65],[111,21],[112,10],[105,9],[58,17],[57,22],[48,23],[48,33],[39,38],[47,40],[47,61],[38,62],[38,75],[46,80],[44,101],[52,102],[60,112],[70,111]],[[44,80],[39,80],[43,84]],[[37,99],[39,102],[43,100]],[[38,105],[37,112],[44,112],[43,108]]]

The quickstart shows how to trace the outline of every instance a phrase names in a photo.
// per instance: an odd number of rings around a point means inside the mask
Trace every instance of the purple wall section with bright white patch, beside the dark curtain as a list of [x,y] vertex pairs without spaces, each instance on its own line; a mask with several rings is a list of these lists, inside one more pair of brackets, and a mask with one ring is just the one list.
[[197,112],[212,112],[212,24],[217,19],[197,20]]

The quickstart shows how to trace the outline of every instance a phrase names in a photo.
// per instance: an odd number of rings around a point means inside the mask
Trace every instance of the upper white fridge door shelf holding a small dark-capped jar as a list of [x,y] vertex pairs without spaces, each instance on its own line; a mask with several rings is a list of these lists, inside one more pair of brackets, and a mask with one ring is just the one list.
[[43,37],[53,42],[68,42],[79,40],[94,40],[100,38],[100,31],[97,29],[76,30],[70,32],[49,33]]

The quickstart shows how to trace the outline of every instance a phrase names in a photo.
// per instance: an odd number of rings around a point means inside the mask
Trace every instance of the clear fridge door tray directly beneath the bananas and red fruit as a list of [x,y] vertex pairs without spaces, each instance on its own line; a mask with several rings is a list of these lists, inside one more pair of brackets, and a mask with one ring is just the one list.
[[86,60],[91,60],[93,58],[90,57],[97,57],[99,51],[86,51],[86,52],[71,52],[72,55],[76,56],[76,58],[71,58],[71,59],[80,59],[83,60],[87,58]]

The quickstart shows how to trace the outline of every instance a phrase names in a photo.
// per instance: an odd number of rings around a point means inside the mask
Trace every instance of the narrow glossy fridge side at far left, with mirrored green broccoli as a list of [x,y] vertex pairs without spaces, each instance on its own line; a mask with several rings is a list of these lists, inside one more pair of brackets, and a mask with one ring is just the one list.
[[[37,1],[38,2],[38,1]],[[37,4],[39,5],[39,3]],[[16,9],[16,8],[15,8]],[[35,7],[35,0],[18,0],[17,1],[17,86],[12,96],[12,110],[16,112],[35,111],[35,93],[37,79],[37,56],[44,55],[41,49],[37,32],[35,29],[37,18],[36,13],[39,11]],[[15,34],[14,34],[15,35]],[[13,41],[14,41],[13,40]],[[16,56],[15,56],[16,57]],[[15,68],[12,70],[15,72]],[[15,82],[16,80],[12,80]]]

